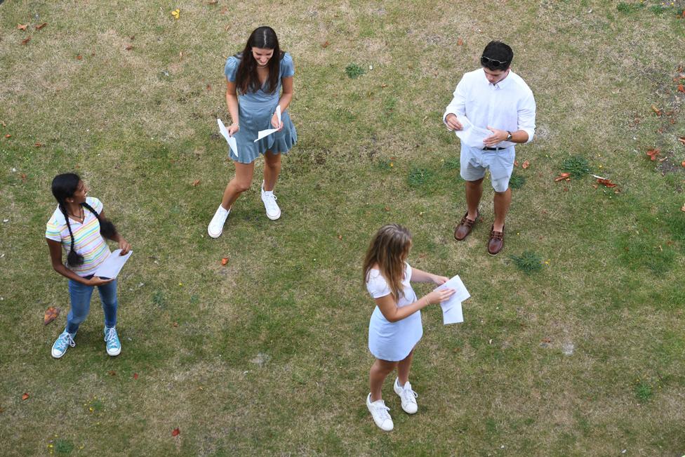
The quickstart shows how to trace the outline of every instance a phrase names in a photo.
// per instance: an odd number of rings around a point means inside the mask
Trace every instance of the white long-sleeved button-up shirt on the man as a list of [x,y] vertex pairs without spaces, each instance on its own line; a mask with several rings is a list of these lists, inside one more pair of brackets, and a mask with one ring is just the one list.
[[[445,121],[448,114],[455,114],[466,116],[477,127],[510,132],[523,130],[528,133],[526,143],[530,143],[535,135],[535,111],[533,91],[518,74],[510,70],[505,79],[491,84],[481,68],[464,74],[442,120]],[[503,141],[496,146],[514,144]]]

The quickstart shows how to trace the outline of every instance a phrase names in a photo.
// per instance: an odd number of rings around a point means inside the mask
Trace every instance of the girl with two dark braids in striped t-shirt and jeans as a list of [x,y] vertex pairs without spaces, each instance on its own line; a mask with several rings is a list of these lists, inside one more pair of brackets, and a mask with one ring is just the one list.
[[[93,275],[107,257],[109,247],[105,238],[117,241],[121,255],[131,251],[131,245],[121,237],[114,224],[105,218],[102,202],[86,197],[88,189],[79,175],[64,173],[55,176],[52,191],[58,206],[48,221],[45,237],[50,249],[53,269],[69,279],[71,307],[67,327],[58,336],[52,356],[59,359],[69,346],[74,347],[74,336],[91,308],[93,288],[98,287],[102,310],[105,311],[105,343],[107,354],[119,355],[121,343],[117,336],[117,280]],[[62,263],[62,248],[67,262]]]

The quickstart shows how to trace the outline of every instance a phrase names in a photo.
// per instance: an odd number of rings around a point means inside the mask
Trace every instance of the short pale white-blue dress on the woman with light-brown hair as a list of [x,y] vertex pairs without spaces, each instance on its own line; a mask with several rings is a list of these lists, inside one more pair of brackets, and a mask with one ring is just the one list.
[[[406,265],[402,279],[404,296],[399,298],[397,307],[403,307],[416,301],[416,293],[409,284],[411,267],[408,263],[404,265]],[[375,268],[368,272],[366,289],[373,298],[390,295],[390,287],[388,287],[380,271],[375,270]],[[376,359],[399,362],[409,355],[421,336],[423,336],[423,326],[421,325],[420,311],[400,321],[389,322],[376,306],[373,314],[371,314],[371,321],[368,323],[368,350]]]

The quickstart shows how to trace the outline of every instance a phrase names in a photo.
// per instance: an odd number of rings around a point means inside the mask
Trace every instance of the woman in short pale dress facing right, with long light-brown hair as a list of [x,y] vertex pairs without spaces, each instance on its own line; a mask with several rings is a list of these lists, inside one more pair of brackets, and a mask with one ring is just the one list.
[[409,383],[409,369],[414,346],[423,336],[420,310],[433,303],[447,300],[454,289],[432,291],[417,298],[409,282],[432,282],[440,285],[444,276],[412,268],[406,263],[411,249],[411,233],[401,225],[380,227],[371,240],[364,259],[364,282],[375,300],[376,307],[368,323],[368,350],[375,362],[368,373],[371,393],[366,407],[375,425],[381,430],[393,428],[381,389],[385,378],[397,369],[393,390],[401,399],[402,409],[408,414],[418,410],[416,392]]

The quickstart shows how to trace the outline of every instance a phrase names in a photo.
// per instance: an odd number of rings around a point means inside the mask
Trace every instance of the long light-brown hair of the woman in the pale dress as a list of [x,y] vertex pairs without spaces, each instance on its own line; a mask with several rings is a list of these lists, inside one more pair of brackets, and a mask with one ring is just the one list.
[[366,258],[364,258],[364,282],[368,281],[368,272],[373,265],[378,265],[380,274],[383,275],[387,285],[390,286],[390,294],[397,301],[404,296],[402,277],[404,276],[404,260],[406,260],[411,248],[411,232],[399,224],[383,225],[378,229],[368,245]]

